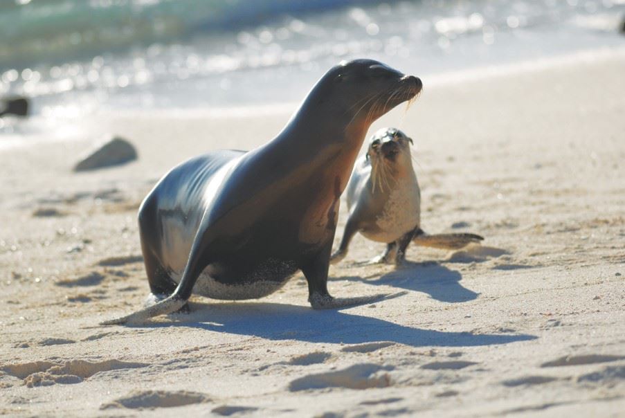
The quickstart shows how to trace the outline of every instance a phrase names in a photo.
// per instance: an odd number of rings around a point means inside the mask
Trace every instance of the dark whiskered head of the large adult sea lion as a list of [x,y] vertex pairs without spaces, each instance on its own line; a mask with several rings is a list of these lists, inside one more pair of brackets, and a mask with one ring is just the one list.
[[328,116],[368,127],[397,104],[415,98],[422,87],[419,78],[379,61],[353,60],[329,69],[309,98]]

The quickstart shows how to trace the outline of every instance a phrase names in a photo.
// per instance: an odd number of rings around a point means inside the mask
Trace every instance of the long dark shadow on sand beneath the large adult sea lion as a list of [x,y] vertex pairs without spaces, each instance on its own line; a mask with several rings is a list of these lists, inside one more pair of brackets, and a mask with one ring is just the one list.
[[528,334],[471,334],[419,329],[337,310],[271,302],[192,303],[191,314],[170,316],[174,322],[151,327],[191,327],[268,340],[359,344],[392,341],[413,347],[468,347],[533,340]]

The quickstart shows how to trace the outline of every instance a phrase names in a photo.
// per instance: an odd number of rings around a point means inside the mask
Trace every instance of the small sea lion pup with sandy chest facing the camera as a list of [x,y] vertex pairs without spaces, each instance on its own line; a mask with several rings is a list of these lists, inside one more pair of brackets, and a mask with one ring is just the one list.
[[367,153],[354,166],[347,184],[350,217],[343,239],[331,263],[347,255],[352,237],[361,233],[387,244],[386,251],[372,262],[400,264],[410,241],[435,248],[462,248],[480,242],[475,234],[427,235],[421,225],[421,190],[413,169],[410,144],[413,140],[395,128],[383,128],[372,136]]

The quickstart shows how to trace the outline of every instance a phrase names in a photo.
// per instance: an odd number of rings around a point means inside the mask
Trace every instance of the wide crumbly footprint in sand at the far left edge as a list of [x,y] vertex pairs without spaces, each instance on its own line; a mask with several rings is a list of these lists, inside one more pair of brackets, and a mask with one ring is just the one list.
[[107,360],[92,363],[84,360],[71,360],[64,363],[50,361],[35,361],[33,363],[18,363],[2,367],[3,372],[24,379],[28,388],[35,386],[49,386],[55,383],[80,383],[98,372],[111,370],[132,369],[146,367],[146,363],[129,363],[119,360]]

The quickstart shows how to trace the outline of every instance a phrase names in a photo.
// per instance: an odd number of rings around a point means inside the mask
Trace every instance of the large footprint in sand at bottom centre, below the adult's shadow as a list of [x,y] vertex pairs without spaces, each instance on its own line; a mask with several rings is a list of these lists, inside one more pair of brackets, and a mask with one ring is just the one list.
[[387,388],[390,386],[390,376],[385,373],[392,370],[391,366],[381,366],[372,363],[361,363],[347,367],[336,372],[308,374],[291,381],[289,390],[324,389],[324,388],[348,388],[368,389]]

